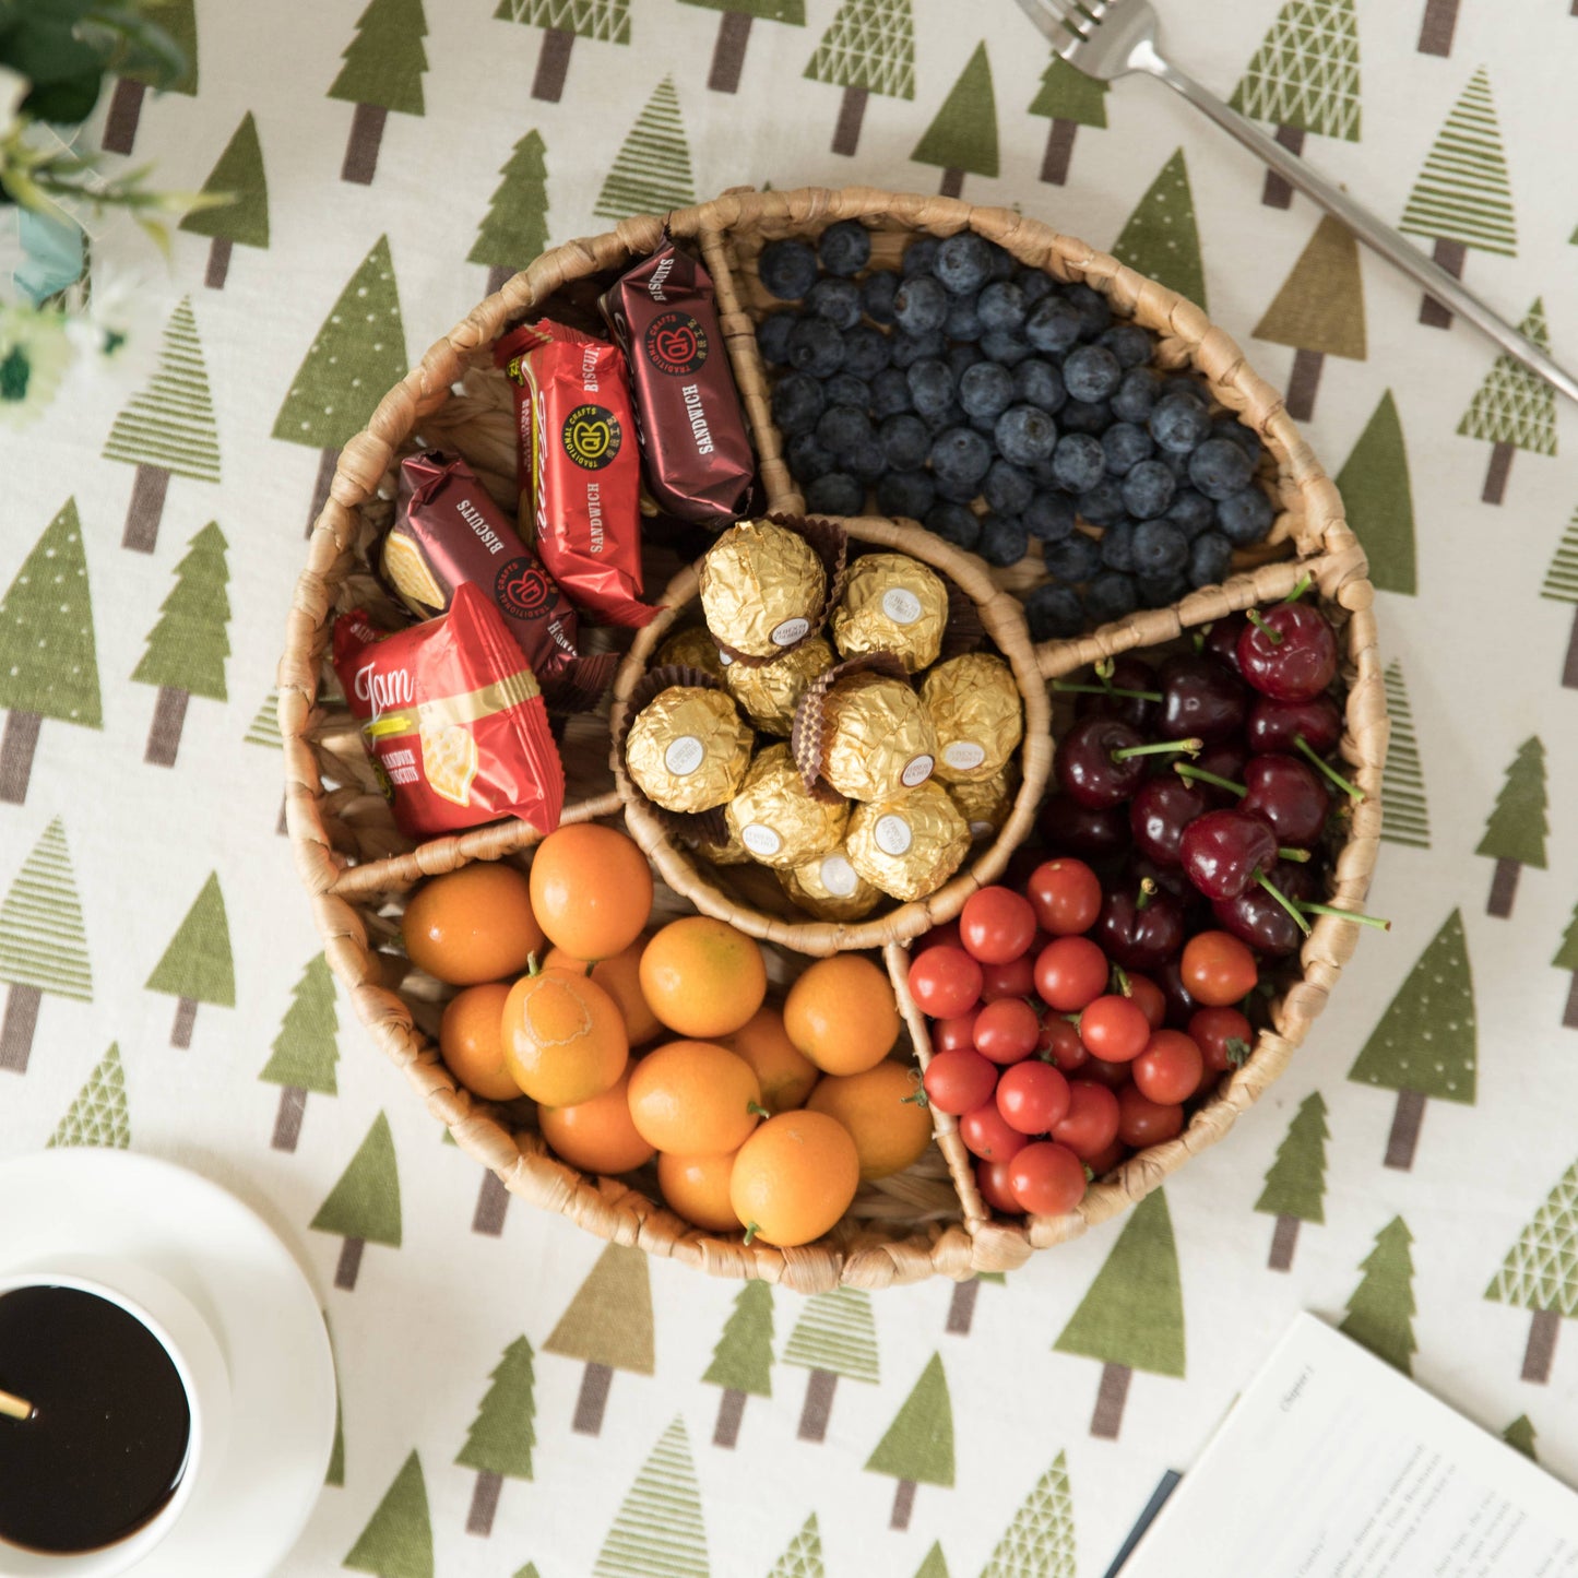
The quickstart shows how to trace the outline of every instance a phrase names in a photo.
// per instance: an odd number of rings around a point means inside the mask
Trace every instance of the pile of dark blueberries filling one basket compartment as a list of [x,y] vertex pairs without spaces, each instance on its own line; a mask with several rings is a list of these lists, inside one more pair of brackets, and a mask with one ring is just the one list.
[[1266,537],[1261,440],[1212,417],[1196,376],[1152,366],[1155,336],[1097,290],[972,232],[918,237],[898,271],[857,278],[869,259],[849,219],[759,260],[762,286],[800,303],[757,342],[783,369],[773,418],[810,510],[860,514],[874,489],[884,514],[997,567],[1037,538],[1053,578],[1026,598],[1038,641],[1165,608]]

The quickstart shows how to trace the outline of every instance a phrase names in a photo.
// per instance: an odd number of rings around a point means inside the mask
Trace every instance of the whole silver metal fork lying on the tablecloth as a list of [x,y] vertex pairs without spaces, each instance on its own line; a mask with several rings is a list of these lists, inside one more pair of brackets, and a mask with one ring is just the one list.
[[1327,213],[1337,215],[1365,246],[1419,281],[1444,306],[1482,328],[1546,383],[1578,401],[1578,379],[1464,289],[1461,281],[1165,58],[1157,47],[1157,13],[1150,0],[1019,0],[1019,9],[1051,39],[1056,54],[1087,76],[1111,82],[1130,71],[1144,71],[1166,82],[1223,131],[1258,153],[1289,186],[1314,199]]

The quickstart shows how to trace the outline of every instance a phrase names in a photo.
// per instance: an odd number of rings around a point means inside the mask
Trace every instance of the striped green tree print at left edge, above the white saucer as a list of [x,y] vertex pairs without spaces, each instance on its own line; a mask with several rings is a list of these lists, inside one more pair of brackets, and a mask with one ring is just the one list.
[[58,816],[0,899],[0,982],[6,982],[0,1068],[25,1075],[44,993],[93,1000],[82,901]]

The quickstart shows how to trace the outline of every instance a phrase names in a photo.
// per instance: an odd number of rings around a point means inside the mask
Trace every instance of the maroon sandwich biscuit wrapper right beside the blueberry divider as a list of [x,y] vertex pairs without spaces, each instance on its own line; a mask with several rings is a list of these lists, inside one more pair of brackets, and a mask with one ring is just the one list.
[[598,305],[630,365],[653,497],[694,525],[737,521],[750,505],[756,464],[712,276],[664,237]]

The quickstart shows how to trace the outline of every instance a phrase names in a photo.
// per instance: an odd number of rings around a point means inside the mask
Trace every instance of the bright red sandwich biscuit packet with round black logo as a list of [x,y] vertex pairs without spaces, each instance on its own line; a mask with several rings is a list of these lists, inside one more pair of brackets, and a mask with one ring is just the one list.
[[645,625],[656,609],[641,601],[641,453],[625,357],[543,319],[505,335],[494,361],[514,385],[516,470],[538,557],[585,612]]

